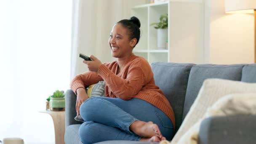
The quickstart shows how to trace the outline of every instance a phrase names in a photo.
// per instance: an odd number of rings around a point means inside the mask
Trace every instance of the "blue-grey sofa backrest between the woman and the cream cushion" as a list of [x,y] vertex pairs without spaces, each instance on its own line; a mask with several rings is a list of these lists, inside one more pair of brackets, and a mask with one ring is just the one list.
[[256,64],[152,64],[155,83],[173,107],[178,131],[197,94],[207,78],[221,78],[256,83]]

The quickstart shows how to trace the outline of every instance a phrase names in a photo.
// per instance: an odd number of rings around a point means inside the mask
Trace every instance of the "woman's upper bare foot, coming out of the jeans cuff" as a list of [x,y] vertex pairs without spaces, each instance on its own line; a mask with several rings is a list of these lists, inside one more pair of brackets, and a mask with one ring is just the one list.
[[153,122],[135,121],[130,125],[130,130],[144,138],[157,136],[161,139],[163,137],[158,126]]

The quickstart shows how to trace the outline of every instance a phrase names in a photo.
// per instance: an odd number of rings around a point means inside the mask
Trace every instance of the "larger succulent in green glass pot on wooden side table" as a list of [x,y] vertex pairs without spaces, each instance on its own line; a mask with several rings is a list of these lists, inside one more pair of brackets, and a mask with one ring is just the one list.
[[50,110],[51,111],[65,111],[64,91],[56,90],[53,93],[53,95],[51,95]]

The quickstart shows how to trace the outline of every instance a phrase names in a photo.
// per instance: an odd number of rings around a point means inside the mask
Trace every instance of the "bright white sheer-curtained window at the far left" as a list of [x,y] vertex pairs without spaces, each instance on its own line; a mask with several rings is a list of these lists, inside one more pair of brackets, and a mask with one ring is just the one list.
[[0,1],[0,139],[54,141],[45,99],[69,89],[72,0]]

